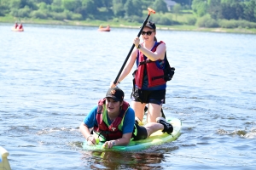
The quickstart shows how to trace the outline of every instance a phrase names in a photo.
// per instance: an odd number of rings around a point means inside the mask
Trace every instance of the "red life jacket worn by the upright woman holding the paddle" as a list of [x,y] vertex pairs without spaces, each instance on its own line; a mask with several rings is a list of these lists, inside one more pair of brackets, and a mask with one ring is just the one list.
[[[160,45],[160,43],[165,42],[158,42],[151,51],[155,52],[156,48]],[[164,71],[157,67],[155,61],[152,61],[150,59],[145,60],[142,52],[139,52],[138,61],[139,65],[137,67],[137,72],[135,75],[135,84],[137,85],[138,88],[141,89],[143,87],[143,72],[145,66],[148,73],[148,88],[152,88],[166,83],[165,79],[163,78]]]

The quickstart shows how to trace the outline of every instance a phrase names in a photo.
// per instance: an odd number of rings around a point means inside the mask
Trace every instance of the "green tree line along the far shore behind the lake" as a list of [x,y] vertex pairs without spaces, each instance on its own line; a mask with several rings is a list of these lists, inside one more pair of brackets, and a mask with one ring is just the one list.
[[256,0],[174,1],[177,4],[169,11],[165,0],[0,0],[0,16],[43,20],[127,20],[141,23],[145,16],[143,12],[151,7],[157,12],[153,20],[166,26],[184,24],[170,17],[170,13],[182,14],[183,9],[193,11],[193,17],[185,23],[189,25],[232,27],[230,23],[234,23],[233,20],[243,20],[243,25],[256,22]]

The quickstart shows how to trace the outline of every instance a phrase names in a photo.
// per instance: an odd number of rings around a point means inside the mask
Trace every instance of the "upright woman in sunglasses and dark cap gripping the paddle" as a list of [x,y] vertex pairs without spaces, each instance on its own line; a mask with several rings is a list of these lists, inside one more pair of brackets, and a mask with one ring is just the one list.
[[111,87],[115,87],[130,73],[134,63],[137,70],[133,73],[133,90],[131,94],[131,108],[135,111],[138,123],[143,121],[144,108],[148,104],[147,122],[156,122],[162,116],[162,104],[166,99],[166,81],[164,80],[164,66],[166,43],[157,42],[154,22],[148,21],[142,31],[143,42],[139,37],[133,40],[135,49],[132,51],[125,69],[119,80]]

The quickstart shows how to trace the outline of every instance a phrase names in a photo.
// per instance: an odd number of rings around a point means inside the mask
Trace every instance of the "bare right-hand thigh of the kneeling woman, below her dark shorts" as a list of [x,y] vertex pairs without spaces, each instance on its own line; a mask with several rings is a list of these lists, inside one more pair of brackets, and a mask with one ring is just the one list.
[[161,105],[148,104],[147,122],[156,122],[155,119],[161,116],[161,108]]

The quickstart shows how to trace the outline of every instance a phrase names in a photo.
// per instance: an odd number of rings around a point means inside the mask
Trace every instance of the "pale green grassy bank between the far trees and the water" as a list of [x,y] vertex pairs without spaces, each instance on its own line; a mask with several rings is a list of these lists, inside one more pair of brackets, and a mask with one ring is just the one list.
[[[181,20],[185,20],[183,17],[177,17]],[[0,22],[3,23],[15,23],[15,21],[21,21],[23,24],[42,24],[42,25],[63,25],[63,26],[111,26],[111,27],[125,27],[125,28],[139,28],[142,23],[131,23],[125,20],[119,20],[119,22],[113,21],[102,21],[102,20],[41,20],[41,19],[17,19],[12,16],[0,17]],[[158,29],[161,30],[172,30],[172,31],[214,31],[214,32],[232,32],[232,33],[249,33],[256,34],[256,29],[248,28],[202,28],[198,26],[178,25],[178,26],[160,26],[157,25]]]

